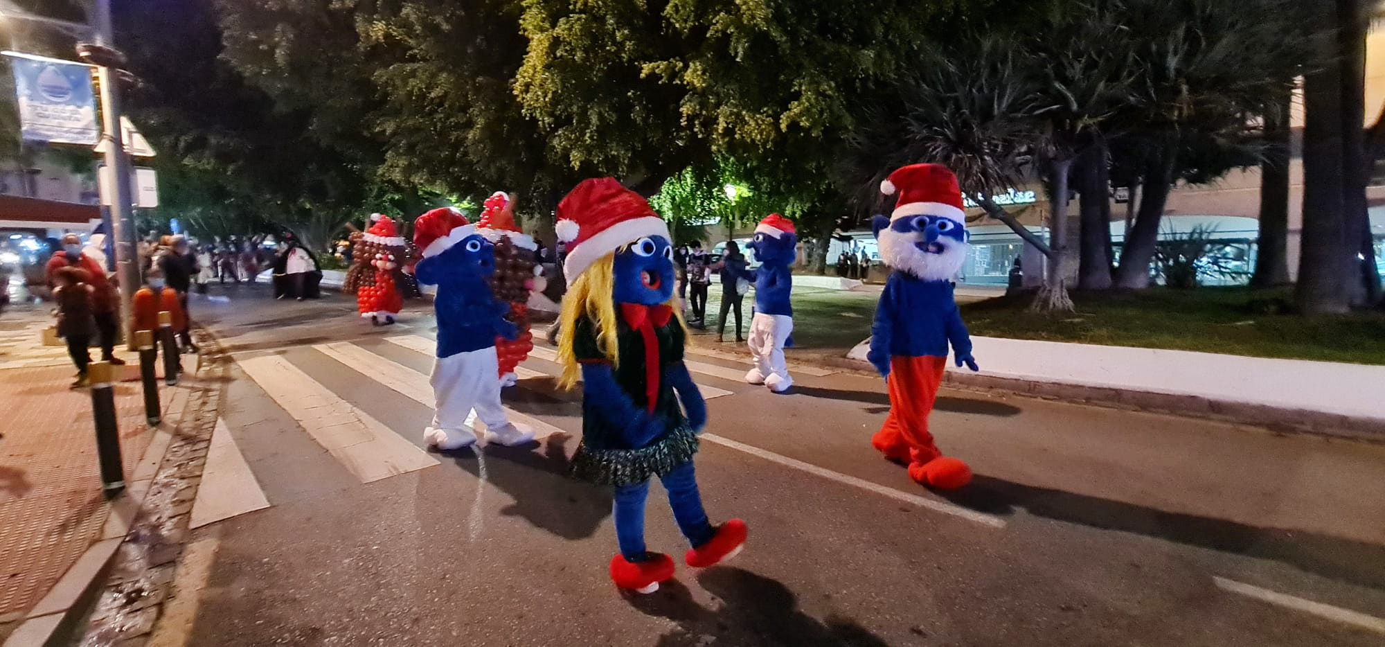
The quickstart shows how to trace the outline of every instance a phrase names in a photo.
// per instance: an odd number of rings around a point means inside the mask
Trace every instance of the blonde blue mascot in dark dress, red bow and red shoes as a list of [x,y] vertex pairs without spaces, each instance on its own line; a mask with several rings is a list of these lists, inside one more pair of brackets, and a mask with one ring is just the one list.
[[673,295],[669,229],[644,198],[604,177],[562,198],[557,231],[568,244],[561,384],[584,382],[572,472],[615,488],[620,553],[611,560],[611,579],[623,590],[652,593],[674,571],[673,558],[644,546],[644,502],[654,477],[691,544],[688,567],[715,565],[747,538],[740,520],[713,526],[698,493],[692,456],[706,403],[683,364],[687,331]]

